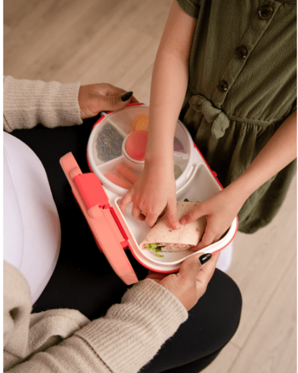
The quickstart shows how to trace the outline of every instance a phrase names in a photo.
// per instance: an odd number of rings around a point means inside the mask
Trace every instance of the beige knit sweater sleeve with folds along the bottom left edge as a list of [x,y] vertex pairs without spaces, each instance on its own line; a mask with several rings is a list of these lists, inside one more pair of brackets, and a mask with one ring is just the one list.
[[133,285],[121,304],[91,322],[76,310],[28,314],[30,322],[23,317],[6,335],[5,371],[137,373],[187,316],[182,303],[151,279]]

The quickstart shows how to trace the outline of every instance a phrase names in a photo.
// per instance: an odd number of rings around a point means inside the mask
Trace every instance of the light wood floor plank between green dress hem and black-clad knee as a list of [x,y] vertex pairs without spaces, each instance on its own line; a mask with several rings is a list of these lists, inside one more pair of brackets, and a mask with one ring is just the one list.
[[[241,322],[232,341],[243,347],[296,252],[296,178],[273,221],[253,235],[237,233],[227,273],[241,290]],[[294,290],[292,290],[294,294]]]

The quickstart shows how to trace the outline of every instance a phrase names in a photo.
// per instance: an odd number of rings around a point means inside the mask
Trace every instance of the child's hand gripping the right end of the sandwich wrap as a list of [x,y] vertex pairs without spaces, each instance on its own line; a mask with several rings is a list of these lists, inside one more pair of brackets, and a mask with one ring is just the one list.
[[204,215],[207,219],[201,241],[192,250],[201,250],[217,242],[231,226],[244,202],[241,196],[233,195],[227,187],[185,214],[180,219],[181,224],[191,223]]

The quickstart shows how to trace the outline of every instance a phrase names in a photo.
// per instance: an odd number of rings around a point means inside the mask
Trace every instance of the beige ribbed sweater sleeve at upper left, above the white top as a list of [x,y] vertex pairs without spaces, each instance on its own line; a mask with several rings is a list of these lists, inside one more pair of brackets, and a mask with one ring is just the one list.
[[78,101],[80,83],[61,84],[4,77],[4,129],[82,124]]

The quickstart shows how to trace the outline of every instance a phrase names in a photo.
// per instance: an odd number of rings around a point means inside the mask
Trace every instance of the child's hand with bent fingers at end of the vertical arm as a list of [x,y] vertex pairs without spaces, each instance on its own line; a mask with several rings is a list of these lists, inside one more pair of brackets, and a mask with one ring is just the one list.
[[169,224],[173,229],[180,228],[172,164],[145,164],[138,180],[120,201],[123,214],[131,202],[133,204],[132,216],[145,220],[149,227],[154,226],[157,218],[167,208]]

